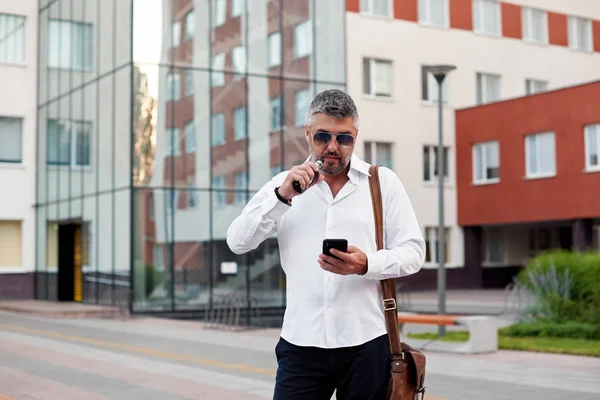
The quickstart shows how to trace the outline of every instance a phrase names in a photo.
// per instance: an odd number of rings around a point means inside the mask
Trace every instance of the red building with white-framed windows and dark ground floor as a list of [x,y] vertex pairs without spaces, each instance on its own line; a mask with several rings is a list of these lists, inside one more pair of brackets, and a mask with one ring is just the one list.
[[456,112],[458,223],[477,286],[540,251],[598,249],[600,81]]

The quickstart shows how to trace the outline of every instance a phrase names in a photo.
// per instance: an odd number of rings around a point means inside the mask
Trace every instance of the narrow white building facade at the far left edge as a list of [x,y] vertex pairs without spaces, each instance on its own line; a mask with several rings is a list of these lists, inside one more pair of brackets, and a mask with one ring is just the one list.
[[37,1],[0,1],[0,298],[33,293]]

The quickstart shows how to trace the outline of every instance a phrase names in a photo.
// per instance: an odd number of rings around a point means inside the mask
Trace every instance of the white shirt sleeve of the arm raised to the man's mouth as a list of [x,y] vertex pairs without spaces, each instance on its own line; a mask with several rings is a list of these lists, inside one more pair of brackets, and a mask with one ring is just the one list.
[[256,249],[277,231],[277,222],[290,206],[275,195],[276,184],[267,182],[227,229],[227,245],[235,254]]

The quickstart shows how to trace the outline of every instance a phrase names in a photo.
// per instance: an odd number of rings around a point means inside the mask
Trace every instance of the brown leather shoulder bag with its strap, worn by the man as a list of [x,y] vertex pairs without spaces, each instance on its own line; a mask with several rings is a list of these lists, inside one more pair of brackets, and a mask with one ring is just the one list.
[[[377,250],[384,248],[383,243],[383,205],[379,184],[379,166],[369,168],[371,174],[369,186],[375,216]],[[398,329],[398,311],[396,309],[396,282],[394,279],[381,281],[381,293],[385,321],[387,325],[390,350],[392,353],[390,381],[387,400],[415,400],[425,396],[425,354],[400,341]]]

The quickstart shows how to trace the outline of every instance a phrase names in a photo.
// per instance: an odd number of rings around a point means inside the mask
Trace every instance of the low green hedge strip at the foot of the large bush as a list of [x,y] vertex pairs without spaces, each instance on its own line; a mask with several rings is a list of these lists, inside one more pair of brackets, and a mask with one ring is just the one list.
[[514,324],[500,329],[498,333],[501,336],[512,337],[554,337],[600,340],[600,325],[576,321],[565,323],[534,321]]

